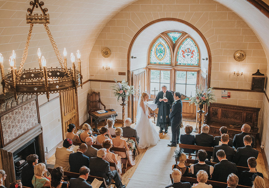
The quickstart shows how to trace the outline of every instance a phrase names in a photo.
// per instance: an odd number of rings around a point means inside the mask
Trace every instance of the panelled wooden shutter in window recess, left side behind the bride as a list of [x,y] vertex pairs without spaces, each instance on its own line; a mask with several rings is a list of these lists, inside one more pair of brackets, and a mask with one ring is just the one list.
[[142,92],[145,91],[146,88],[146,70],[145,68],[138,69],[136,71],[131,72],[131,76],[132,76],[131,85],[133,86],[133,88],[136,89],[136,94],[132,96],[131,99],[132,100],[131,119],[133,120],[133,122],[136,122],[136,112],[139,96]]

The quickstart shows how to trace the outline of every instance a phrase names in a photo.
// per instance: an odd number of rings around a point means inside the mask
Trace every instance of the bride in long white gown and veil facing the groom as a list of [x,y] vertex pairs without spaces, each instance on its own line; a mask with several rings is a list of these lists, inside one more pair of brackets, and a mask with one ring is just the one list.
[[136,126],[134,127],[139,136],[139,148],[155,146],[160,140],[159,133],[150,120],[148,110],[148,93],[143,92],[138,101]]

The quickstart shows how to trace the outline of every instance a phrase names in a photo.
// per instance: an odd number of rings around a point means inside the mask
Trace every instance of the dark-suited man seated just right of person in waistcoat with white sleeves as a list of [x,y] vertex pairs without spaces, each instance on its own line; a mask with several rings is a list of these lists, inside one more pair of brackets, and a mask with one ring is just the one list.
[[218,182],[227,182],[227,177],[230,173],[237,174],[237,166],[226,159],[225,152],[220,149],[217,151],[217,158],[219,163],[214,165],[214,172],[212,174],[212,180]]

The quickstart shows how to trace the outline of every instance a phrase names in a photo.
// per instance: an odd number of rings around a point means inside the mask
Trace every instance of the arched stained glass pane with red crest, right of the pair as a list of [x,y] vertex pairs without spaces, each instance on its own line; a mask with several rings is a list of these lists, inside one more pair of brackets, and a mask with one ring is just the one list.
[[197,46],[189,37],[179,47],[177,65],[199,65]]

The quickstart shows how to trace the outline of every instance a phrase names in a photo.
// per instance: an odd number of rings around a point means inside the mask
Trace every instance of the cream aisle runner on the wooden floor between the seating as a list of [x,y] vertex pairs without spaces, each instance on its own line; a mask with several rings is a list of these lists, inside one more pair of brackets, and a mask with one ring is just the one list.
[[169,140],[161,139],[156,146],[149,147],[140,161],[127,188],[164,188],[169,185],[169,174],[175,164],[175,149],[169,147]]

